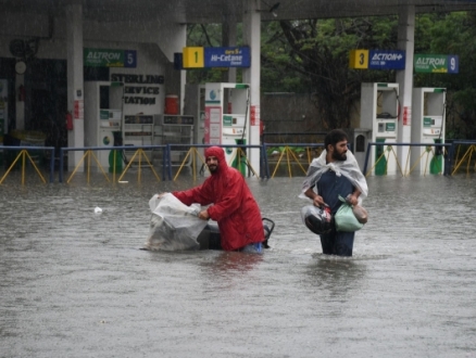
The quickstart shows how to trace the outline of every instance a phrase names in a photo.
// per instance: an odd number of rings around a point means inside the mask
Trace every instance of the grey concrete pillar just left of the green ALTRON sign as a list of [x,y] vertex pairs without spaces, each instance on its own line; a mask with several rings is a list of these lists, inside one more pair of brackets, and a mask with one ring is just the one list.
[[[66,60],[67,60],[67,110],[73,115],[73,130],[67,132],[67,146],[85,145],[84,74],[83,74],[83,5],[65,5]],[[96,120],[97,118],[89,118]],[[68,152],[67,167],[74,169],[83,152]],[[78,169],[83,171],[83,168]]]

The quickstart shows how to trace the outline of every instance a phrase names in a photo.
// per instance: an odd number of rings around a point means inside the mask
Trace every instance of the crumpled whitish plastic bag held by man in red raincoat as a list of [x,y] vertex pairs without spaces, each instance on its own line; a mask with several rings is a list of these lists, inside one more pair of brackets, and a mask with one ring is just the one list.
[[205,220],[198,218],[200,206],[187,206],[172,193],[159,197],[156,194],[149,201],[150,218],[149,236],[146,248],[152,251],[199,250],[197,238],[206,226]]

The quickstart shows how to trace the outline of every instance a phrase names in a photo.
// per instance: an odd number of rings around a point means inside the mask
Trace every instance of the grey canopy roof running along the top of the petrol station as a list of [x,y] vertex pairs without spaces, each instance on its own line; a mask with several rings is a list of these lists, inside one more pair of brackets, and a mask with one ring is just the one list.
[[[279,2],[275,16],[270,10]],[[3,9],[61,14],[67,3],[83,4],[85,20],[97,22],[166,21],[180,24],[222,23],[224,13],[243,14],[240,0],[0,0]],[[476,0],[261,0],[262,21],[380,16],[414,4],[416,13],[476,10]]]

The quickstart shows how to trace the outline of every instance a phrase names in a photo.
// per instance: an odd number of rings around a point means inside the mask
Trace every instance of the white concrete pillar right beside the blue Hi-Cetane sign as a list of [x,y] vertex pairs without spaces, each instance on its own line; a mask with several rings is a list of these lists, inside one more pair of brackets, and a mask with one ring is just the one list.
[[[260,87],[261,87],[261,14],[260,0],[243,1],[243,43],[250,47],[251,66],[243,68],[243,82],[250,85],[250,144],[260,144]],[[260,151],[250,151],[249,158],[252,167],[260,170]]]

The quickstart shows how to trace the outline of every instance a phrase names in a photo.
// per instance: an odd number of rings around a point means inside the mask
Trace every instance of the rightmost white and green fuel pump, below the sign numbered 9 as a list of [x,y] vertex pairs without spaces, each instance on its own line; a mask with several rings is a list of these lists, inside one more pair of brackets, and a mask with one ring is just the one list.
[[[444,88],[414,88],[412,92],[412,143],[427,143],[414,146],[411,152],[413,171],[419,174],[442,174],[444,169],[441,146],[430,144],[444,143]],[[430,159],[426,159],[425,152]]]

